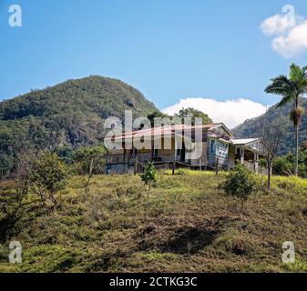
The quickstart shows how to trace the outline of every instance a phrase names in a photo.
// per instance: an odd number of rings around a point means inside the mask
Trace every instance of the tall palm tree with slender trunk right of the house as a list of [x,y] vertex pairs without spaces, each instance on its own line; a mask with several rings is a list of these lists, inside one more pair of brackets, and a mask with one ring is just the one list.
[[292,64],[290,67],[290,75],[279,75],[271,79],[271,85],[265,88],[265,92],[269,94],[281,95],[281,102],[276,108],[286,105],[294,101],[294,108],[290,118],[294,125],[295,132],[295,175],[299,172],[299,127],[304,114],[304,109],[299,106],[299,99],[302,95],[307,94],[307,66],[300,67]]

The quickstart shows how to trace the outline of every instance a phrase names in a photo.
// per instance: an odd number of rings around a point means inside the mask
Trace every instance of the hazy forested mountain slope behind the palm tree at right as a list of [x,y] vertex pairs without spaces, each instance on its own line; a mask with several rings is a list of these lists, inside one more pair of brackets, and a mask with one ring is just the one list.
[[[302,98],[300,100],[300,105],[304,107],[307,112],[306,98]],[[237,138],[261,136],[263,119],[265,119],[265,124],[267,125],[277,124],[281,126],[283,130],[283,135],[281,138],[281,147],[279,154],[288,154],[294,149],[293,124],[292,121],[290,121],[289,119],[292,107],[292,103],[277,109],[275,108],[275,105],[273,105],[266,114],[250,120],[246,120],[243,124],[238,125],[236,128],[234,128],[232,132]],[[302,123],[300,126],[300,143],[304,141],[307,141],[307,114],[302,116]]]

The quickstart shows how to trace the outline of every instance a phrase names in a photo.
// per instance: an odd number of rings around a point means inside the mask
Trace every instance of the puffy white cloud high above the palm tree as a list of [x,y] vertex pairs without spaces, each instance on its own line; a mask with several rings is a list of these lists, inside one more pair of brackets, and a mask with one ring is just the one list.
[[307,51],[307,20],[302,16],[273,15],[261,24],[265,35],[273,36],[271,47],[285,58],[294,57]]

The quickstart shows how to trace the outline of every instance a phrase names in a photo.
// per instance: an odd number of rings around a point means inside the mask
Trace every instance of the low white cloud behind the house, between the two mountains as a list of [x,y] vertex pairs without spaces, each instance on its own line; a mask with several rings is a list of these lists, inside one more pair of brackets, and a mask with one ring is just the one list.
[[163,113],[174,115],[182,108],[193,107],[208,114],[213,122],[222,122],[230,128],[262,115],[266,107],[248,99],[227,100],[220,102],[210,98],[187,98],[162,110]]

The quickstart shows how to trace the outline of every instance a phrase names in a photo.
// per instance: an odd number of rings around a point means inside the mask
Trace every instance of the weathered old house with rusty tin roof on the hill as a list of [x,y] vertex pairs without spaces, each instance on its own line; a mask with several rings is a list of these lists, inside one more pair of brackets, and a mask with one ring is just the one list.
[[[106,140],[105,140],[106,141]],[[235,139],[226,125],[164,125],[108,138],[107,174],[141,171],[148,161],[155,166],[196,169],[233,168],[240,163],[265,173],[259,160],[269,152],[261,138]]]

